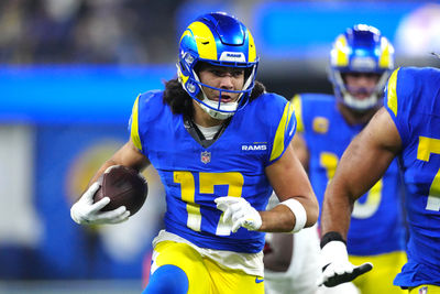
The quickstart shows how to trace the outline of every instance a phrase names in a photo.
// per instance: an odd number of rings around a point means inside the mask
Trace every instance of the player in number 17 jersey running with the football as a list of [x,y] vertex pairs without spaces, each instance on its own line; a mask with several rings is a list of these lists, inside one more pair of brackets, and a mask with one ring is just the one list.
[[[113,165],[152,164],[166,192],[165,230],[153,241],[144,293],[264,293],[264,231],[312,226],[319,206],[290,144],[293,105],[255,81],[250,31],[208,13],[180,37],[176,79],[134,102],[130,140]],[[124,207],[101,213],[98,185],[72,207],[78,224],[125,220]],[[275,192],[280,204],[265,210]]]

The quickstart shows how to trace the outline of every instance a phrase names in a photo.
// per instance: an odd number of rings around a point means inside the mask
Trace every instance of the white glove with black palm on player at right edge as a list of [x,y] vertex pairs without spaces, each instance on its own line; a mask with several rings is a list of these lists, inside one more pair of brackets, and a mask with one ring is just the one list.
[[328,287],[350,282],[373,269],[373,264],[370,262],[360,266],[353,265],[349,261],[346,247],[342,241],[330,241],[321,249],[321,265],[322,274],[318,285],[323,284]]

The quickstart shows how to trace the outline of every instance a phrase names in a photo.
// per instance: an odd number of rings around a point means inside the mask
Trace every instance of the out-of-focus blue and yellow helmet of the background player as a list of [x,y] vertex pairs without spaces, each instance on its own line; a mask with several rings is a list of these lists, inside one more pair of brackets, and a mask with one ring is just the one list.
[[[371,25],[358,24],[339,35],[330,52],[329,79],[337,99],[356,111],[369,110],[382,102],[387,78],[394,68],[394,47]],[[380,76],[376,87],[366,99],[350,94],[343,74],[373,73]]]

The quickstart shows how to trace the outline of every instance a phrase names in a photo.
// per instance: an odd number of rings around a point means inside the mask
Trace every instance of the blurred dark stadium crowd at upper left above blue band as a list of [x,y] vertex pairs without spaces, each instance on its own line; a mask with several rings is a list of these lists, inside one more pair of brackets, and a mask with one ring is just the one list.
[[[183,0],[7,0],[0,3],[2,64],[168,62]],[[169,24],[172,22],[172,25]]]

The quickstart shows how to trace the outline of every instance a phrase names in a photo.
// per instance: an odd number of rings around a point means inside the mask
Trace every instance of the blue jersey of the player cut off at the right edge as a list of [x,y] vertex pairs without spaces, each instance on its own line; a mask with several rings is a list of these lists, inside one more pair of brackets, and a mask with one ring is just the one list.
[[402,139],[399,163],[407,197],[408,263],[395,284],[440,285],[440,70],[398,68],[385,108]]

